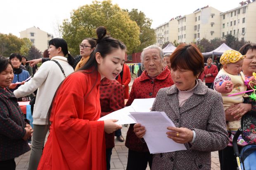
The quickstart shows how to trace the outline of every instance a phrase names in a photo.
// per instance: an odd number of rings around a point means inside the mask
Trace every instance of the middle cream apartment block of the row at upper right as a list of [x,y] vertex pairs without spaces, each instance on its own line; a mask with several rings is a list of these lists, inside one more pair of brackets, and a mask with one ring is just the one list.
[[202,7],[192,14],[178,19],[178,42],[199,42],[202,38],[212,40],[220,35],[220,11]]

